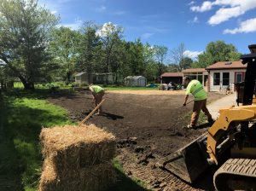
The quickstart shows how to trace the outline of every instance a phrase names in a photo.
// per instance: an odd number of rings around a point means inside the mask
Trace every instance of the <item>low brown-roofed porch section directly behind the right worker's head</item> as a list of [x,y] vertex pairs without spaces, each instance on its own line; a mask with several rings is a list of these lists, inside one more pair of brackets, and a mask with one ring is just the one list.
[[204,86],[207,86],[208,72],[205,68],[188,68],[182,71],[183,76],[190,79],[197,79]]

